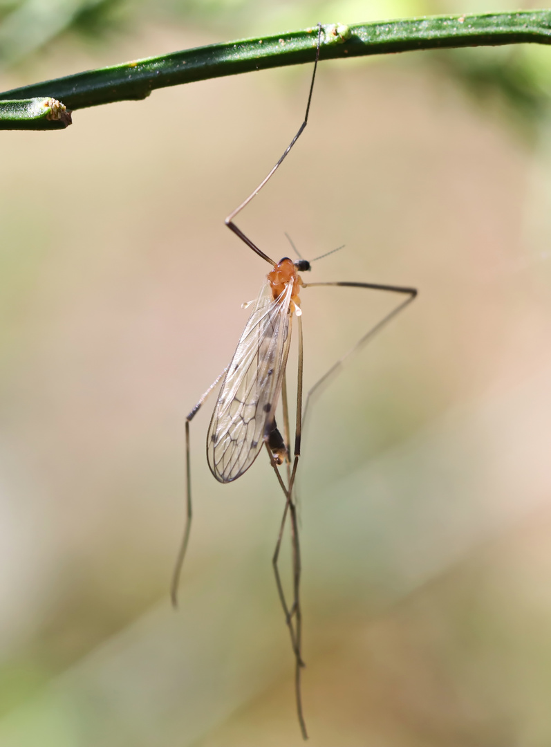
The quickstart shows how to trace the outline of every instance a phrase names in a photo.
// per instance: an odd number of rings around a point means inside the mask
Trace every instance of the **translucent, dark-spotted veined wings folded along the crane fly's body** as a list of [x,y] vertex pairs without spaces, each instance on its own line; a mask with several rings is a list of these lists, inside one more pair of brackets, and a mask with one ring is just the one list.
[[273,300],[266,282],[231,359],[207,436],[208,465],[220,483],[240,477],[264,444],[289,353],[292,294],[288,283]]

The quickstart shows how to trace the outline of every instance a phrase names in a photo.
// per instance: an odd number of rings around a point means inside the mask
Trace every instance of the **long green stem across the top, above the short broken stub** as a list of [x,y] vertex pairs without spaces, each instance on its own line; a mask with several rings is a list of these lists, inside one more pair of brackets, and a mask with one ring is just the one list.
[[[320,59],[463,46],[551,43],[551,10],[432,16],[323,26]],[[273,37],[172,52],[0,93],[0,99],[52,96],[70,110],[144,99],[155,88],[314,60],[317,27]]]

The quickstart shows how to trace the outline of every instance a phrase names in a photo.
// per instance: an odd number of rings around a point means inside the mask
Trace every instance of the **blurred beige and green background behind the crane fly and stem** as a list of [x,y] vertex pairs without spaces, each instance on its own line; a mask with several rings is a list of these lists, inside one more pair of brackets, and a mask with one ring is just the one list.
[[[321,22],[511,0],[1,0],[1,90]],[[529,6],[525,6],[529,7]],[[313,746],[551,741],[551,111],[543,46],[323,62],[239,225],[314,280],[419,288],[311,411],[299,474]],[[302,743],[261,455],[222,486],[184,419],[267,266],[223,223],[311,66],[1,134],[0,746]],[[396,303],[302,293],[313,382]],[[293,360],[290,371],[293,371]],[[284,571],[288,573],[288,545]]]

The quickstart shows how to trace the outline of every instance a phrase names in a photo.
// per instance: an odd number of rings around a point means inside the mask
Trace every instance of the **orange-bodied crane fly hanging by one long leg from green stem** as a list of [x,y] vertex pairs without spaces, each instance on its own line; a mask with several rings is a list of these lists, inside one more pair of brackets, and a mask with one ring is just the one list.
[[[334,34],[334,27],[329,27],[329,32]],[[192,518],[191,503],[191,471],[190,471],[190,422],[202,407],[208,395],[217,387],[223,378],[218,395],[217,403],[211,418],[207,436],[207,460],[212,474],[220,483],[231,483],[246,472],[255,462],[263,447],[266,448],[270,464],[275,472],[281,490],[284,494],[285,505],[279,526],[278,538],[273,554],[273,570],[277,586],[279,600],[284,611],[285,622],[290,632],[291,647],[295,659],[295,698],[296,712],[299,726],[304,739],[308,738],[305,719],[302,713],[301,694],[301,670],[305,666],[302,660],[302,610],[300,604],[300,546],[299,527],[296,518],[296,470],[299,464],[301,451],[302,424],[308,410],[308,403],[315,394],[319,394],[323,385],[337,373],[338,369],[349,356],[357,352],[373,335],[376,335],[385,324],[390,321],[399,311],[405,308],[417,295],[415,288],[405,288],[398,285],[379,285],[367,282],[313,282],[306,283],[299,273],[311,270],[311,262],[303,259],[293,261],[288,257],[275,262],[259,247],[254,244],[235,223],[234,218],[246,205],[251,202],[264,185],[271,179],[275,171],[284,161],[296,140],[308,124],[314,81],[316,78],[317,63],[320,58],[320,47],[322,35],[328,36],[328,30],[318,24],[317,46],[314,59],[314,71],[312,72],[308,102],[306,105],[305,118],[296,135],[285,149],[281,158],[273,169],[256,187],[256,189],[228,215],[225,225],[243,241],[255,254],[267,261],[271,270],[267,273],[260,294],[255,302],[243,304],[249,306],[254,303],[252,313],[246,323],[240,341],[237,343],[234,356],[229,365],[217,376],[199,402],[187,415],[185,424],[186,436],[186,498],[187,517],[184,527],[184,536],[181,540],[178,557],[172,575],[171,598],[172,604],[177,604],[178,584],[180,580],[181,567],[190,538],[190,527]],[[287,237],[288,238],[288,237]],[[292,241],[291,246],[296,252]],[[340,247],[339,247],[340,248]],[[333,249],[332,251],[336,251]],[[298,252],[296,252],[298,255]],[[330,254],[331,252],[326,252]],[[322,255],[326,256],[325,254]],[[318,257],[317,259],[320,259]],[[300,306],[299,293],[303,288],[314,286],[339,286],[343,288],[364,288],[376,291],[391,291],[393,293],[405,294],[406,299],[399,303],[390,313],[382,318],[376,326],[373,326],[344,356],[337,360],[329,371],[323,374],[306,394],[305,406],[302,407],[302,309]],[[297,365],[297,394],[296,394],[296,421],[294,433],[294,449],[291,456],[290,450],[290,426],[287,403],[287,385],[285,379],[287,358],[290,350],[291,330],[293,317],[296,317],[296,328],[298,338],[298,365]],[[275,421],[275,409],[281,396],[281,409],[283,412],[283,434]],[[283,472],[283,474],[282,474]],[[292,547],[292,576],[293,593],[292,602],[287,602],[281,576],[278,569],[278,558],[281,541],[287,519],[290,519],[290,537]]]

